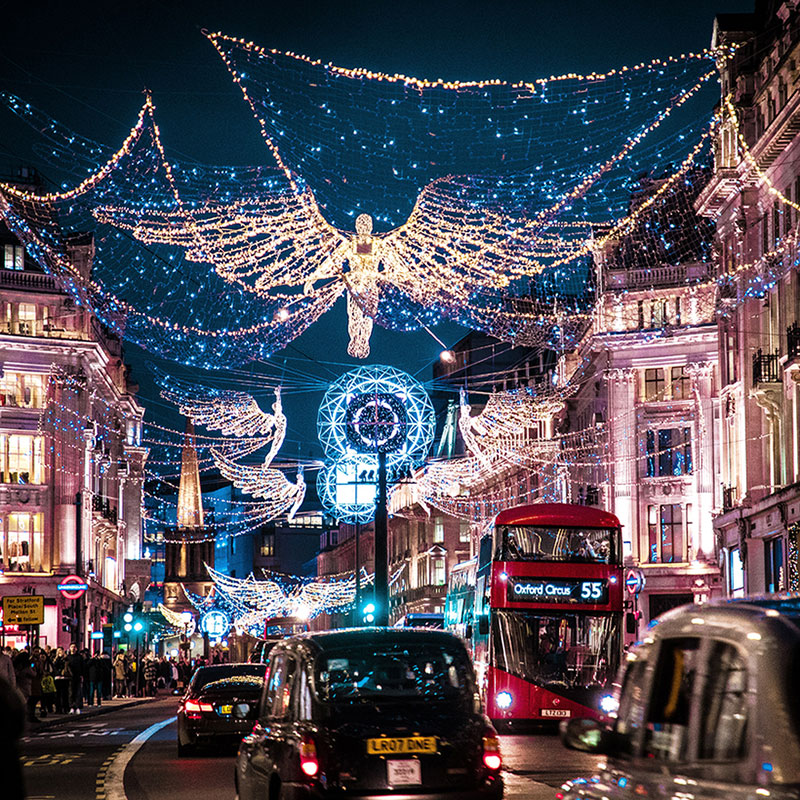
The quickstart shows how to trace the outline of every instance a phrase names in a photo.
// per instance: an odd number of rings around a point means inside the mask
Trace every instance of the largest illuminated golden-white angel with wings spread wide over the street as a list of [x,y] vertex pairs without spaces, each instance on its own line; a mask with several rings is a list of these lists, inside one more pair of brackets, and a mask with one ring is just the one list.
[[[166,166],[165,172],[170,172]],[[213,265],[246,291],[266,297],[280,293],[286,300],[277,325],[292,318],[301,300],[329,308],[346,292],[348,353],[357,358],[369,354],[387,292],[399,292],[411,305],[439,310],[441,316],[472,315],[481,328],[487,319],[491,327],[505,317],[524,329],[525,314],[504,308],[498,298],[513,279],[546,267],[539,226],[476,211],[460,197],[463,183],[442,178],[423,189],[399,228],[375,233],[371,217],[361,214],[355,232],[342,231],[325,220],[310,188],[288,170],[285,176],[289,188],[256,196],[243,186],[234,201],[190,200],[173,180],[169,211],[163,204],[131,202],[101,205],[94,215],[144,244],[182,247],[187,260]],[[495,298],[494,307],[481,305],[481,291]],[[414,314],[407,316],[414,327]]]

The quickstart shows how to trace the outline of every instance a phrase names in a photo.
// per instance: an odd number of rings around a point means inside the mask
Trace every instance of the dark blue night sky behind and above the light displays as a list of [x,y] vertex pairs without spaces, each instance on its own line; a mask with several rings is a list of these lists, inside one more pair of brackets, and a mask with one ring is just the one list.
[[[604,71],[710,43],[716,13],[753,10],[752,0],[671,2],[31,2],[3,19],[0,90],[19,95],[78,133],[116,149],[153,93],[168,155],[209,164],[270,163],[249,108],[201,34],[222,31],[268,48],[345,67],[424,78],[532,80]],[[713,103],[713,95],[709,103]],[[710,112],[710,107],[709,107]],[[0,173],[36,166],[33,132],[0,109]],[[54,182],[61,176],[43,167]],[[343,304],[272,359],[275,371],[333,380],[346,355]],[[435,329],[447,344],[461,329]],[[427,333],[375,329],[373,363],[425,381],[440,345]],[[148,418],[179,426],[129,348]],[[169,368],[169,365],[164,364]],[[259,371],[269,367],[253,367]],[[188,377],[186,370],[181,370]],[[207,376],[199,375],[200,379]],[[254,392],[268,408],[271,398]],[[282,455],[318,456],[314,421],[321,391],[286,398]]]

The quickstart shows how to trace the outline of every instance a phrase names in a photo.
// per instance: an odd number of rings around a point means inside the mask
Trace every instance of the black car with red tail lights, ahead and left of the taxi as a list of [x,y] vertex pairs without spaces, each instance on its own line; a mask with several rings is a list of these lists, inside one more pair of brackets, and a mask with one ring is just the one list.
[[202,745],[235,744],[251,730],[265,672],[264,664],[199,667],[178,707],[178,756]]

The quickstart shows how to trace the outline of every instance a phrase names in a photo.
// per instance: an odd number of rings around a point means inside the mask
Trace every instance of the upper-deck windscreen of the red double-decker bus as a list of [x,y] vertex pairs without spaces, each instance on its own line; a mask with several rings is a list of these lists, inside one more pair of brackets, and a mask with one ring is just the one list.
[[497,529],[495,558],[498,561],[616,564],[618,535],[614,528],[503,525]]

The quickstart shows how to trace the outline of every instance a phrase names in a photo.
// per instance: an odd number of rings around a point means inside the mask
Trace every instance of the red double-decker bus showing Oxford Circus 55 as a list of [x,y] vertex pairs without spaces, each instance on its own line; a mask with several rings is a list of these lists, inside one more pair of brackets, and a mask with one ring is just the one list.
[[541,503],[497,515],[445,610],[448,627],[456,623],[471,642],[493,721],[601,714],[622,653],[620,534],[613,514],[587,506]]

